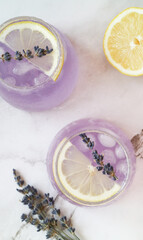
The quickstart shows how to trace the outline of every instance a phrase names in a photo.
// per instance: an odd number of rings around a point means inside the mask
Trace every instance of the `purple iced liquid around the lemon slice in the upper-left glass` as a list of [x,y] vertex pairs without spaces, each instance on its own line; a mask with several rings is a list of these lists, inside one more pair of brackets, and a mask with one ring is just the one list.
[[[16,21],[19,22],[20,19]],[[42,20],[34,18],[32,21],[47,26]],[[65,36],[52,26],[50,28],[58,34],[64,48],[64,64],[56,81],[45,75],[27,59],[22,61],[12,59],[10,62],[0,60],[0,95],[17,108],[32,111],[53,108],[65,101],[75,87],[78,71],[75,51]],[[0,53],[6,51],[12,56],[15,55],[7,45],[0,41]]]

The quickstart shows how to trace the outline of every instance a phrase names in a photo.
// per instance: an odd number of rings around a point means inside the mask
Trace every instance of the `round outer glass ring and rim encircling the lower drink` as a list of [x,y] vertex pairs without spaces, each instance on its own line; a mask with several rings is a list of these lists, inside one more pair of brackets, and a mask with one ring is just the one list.
[[[75,122],[73,122],[74,123],[74,127],[76,126],[76,125],[78,125],[79,124],[79,122],[80,121],[89,121],[89,120],[91,120],[91,119],[80,119],[80,120],[78,120],[78,121],[75,121]],[[113,129],[115,130],[118,130],[118,131],[120,131],[120,134],[122,135],[122,131],[119,129],[119,128],[117,128],[117,127],[115,127],[114,125],[112,125],[111,123],[109,123],[109,122],[107,122],[107,121],[104,121],[104,120],[100,120],[100,119],[98,119],[98,120],[95,120],[95,119],[92,119],[92,121],[94,121],[95,123],[99,123],[99,122],[101,122],[101,125],[104,123],[104,125],[106,125],[107,124],[107,126],[109,127],[113,127]],[[70,123],[70,124],[68,124],[67,126],[65,126],[57,135],[56,135],[56,137],[55,137],[55,139],[54,139],[54,141],[56,141],[56,138],[58,138],[58,143],[60,144],[60,142],[61,142],[61,138],[60,138],[60,136],[61,135],[63,135],[63,133],[64,133],[64,131],[66,131],[66,129],[69,127],[70,128],[70,126],[72,126],[72,124],[73,123]],[[87,124],[85,124],[85,125],[87,125]],[[107,127],[106,126],[106,127]],[[86,126],[87,127],[87,126]],[[78,127],[79,129],[78,129],[78,132],[76,133],[76,134],[70,134],[70,133],[68,133],[69,135],[68,136],[66,136],[66,133],[65,133],[65,137],[67,138],[67,140],[66,140],[66,142],[67,141],[69,141],[69,139],[71,139],[72,137],[74,137],[75,135],[78,135],[78,134],[80,134],[81,132],[83,133],[83,130],[81,130],[81,128],[80,127]],[[64,130],[65,129],[65,130]],[[113,130],[112,129],[112,130]],[[91,132],[92,131],[92,129],[90,128],[90,129],[86,129],[86,130],[84,130],[84,132]],[[119,189],[119,191],[116,193],[116,194],[114,194],[113,196],[111,196],[111,197],[109,197],[108,199],[104,199],[103,201],[99,201],[99,202],[89,202],[89,201],[83,201],[83,200],[80,200],[80,199],[78,199],[77,197],[75,197],[75,196],[73,196],[73,195],[71,195],[71,193],[69,193],[67,190],[66,190],[66,188],[63,186],[63,184],[61,183],[61,181],[60,181],[60,179],[59,179],[59,176],[58,176],[58,174],[57,175],[55,175],[55,173],[58,173],[58,171],[57,171],[57,161],[58,161],[58,157],[57,157],[57,159],[55,160],[55,163],[54,163],[54,160],[53,160],[53,158],[54,158],[54,152],[56,151],[56,145],[54,144],[54,141],[53,141],[53,144],[51,145],[51,149],[50,149],[50,152],[52,153],[52,160],[51,159],[49,159],[49,161],[52,161],[52,169],[51,170],[48,170],[48,172],[49,171],[52,171],[52,178],[53,178],[53,180],[55,181],[55,183],[56,183],[56,188],[57,188],[57,190],[58,191],[60,191],[61,192],[61,194],[63,195],[63,197],[66,197],[69,201],[71,201],[72,203],[75,203],[75,204],[78,204],[79,206],[100,206],[100,205],[106,205],[106,204],[108,204],[108,203],[110,203],[110,202],[112,202],[112,201],[114,201],[114,200],[116,200],[118,197],[120,197],[120,195],[125,191],[125,189],[129,186],[129,184],[131,183],[131,177],[132,177],[132,172],[133,172],[133,170],[131,169],[131,168],[135,168],[135,166],[131,166],[131,164],[132,164],[132,162],[135,162],[135,156],[133,156],[133,152],[129,152],[129,149],[128,149],[128,147],[127,146],[124,146],[125,145],[125,141],[122,141],[122,138],[121,138],[121,140],[120,139],[117,139],[115,136],[113,136],[112,134],[110,134],[110,133],[108,133],[108,132],[106,132],[106,131],[104,131],[104,130],[99,130],[96,126],[95,126],[95,129],[93,129],[93,131],[94,132],[101,132],[101,133],[104,133],[104,134],[106,134],[106,135],[110,135],[112,138],[114,138],[115,139],[115,141],[123,148],[123,150],[124,150],[124,153],[125,153],[125,156],[126,156],[126,162],[127,162],[127,176],[125,177],[125,179],[124,179],[124,182],[121,184],[121,187],[120,187],[120,189]],[[68,130],[67,130],[67,132],[68,132]],[[74,132],[75,133],[75,132]],[[72,135],[72,136],[71,136]],[[118,135],[119,136],[119,135]],[[120,136],[121,137],[121,136]],[[119,138],[120,138],[119,137]],[[123,134],[123,136],[122,137],[126,137],[124,134]],[[64,139],[64,137],[62,137],[62,139]],[[127,139],[127,138],[126,138]],[[125,140],[126,140],[125,139]],[[60,151],[62,151],[62,148],[63,148],[63,146],[65,145],[66,143],[63,143],[63,145],[61,146],[61,149],[59,150],[59,152]],[[131,147],[131,144],[130,144],[130,147]],[[131,147],[132,148],[132,147]],[[132,150],[133,150],[133,148],[132,148]],[[49,154],[50,155],[50,154]],[[48,159],[47,159],[47,161],[48,161]],[[48,162],[47,162],[47,165],[48,165]],[[48,167],[48,166],[47,166]],[[55,169],[54,169],[55,168]],[[54,173],[54,171],[55,171],[55,173]],[[49,172],[49,175],[50,175],[50,172]]]

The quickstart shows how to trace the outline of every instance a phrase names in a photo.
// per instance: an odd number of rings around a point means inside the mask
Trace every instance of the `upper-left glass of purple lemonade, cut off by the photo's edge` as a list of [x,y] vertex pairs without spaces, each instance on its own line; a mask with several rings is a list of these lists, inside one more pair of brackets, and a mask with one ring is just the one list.
[[17,108],[42,111],[61,104],[77,81],[70,41],[41,19],[17,17],[0,26],[0,95]]

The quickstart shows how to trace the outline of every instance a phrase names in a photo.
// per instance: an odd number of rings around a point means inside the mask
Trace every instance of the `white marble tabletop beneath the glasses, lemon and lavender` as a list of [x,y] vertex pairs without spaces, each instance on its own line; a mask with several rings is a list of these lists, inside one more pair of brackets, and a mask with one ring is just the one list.
[[[29,184],[56,196],[46,170],[52,138],[66,124],[79,118],[109,120],[131,139],[143,128],[143,77],[127,77],[106,60],[104,32],[119,12],[142,7],[141,0],[5,0],[0,23],[20,15],[37,16],[65,33],[79,59],[79,79],[71,97],[50,111],[24,112],[0,99],[0,240],[43,240],[31,225],[23,225],[26,212],[16,192],[12,168]],[[143,239],[143,161],[137,158],[136,174],[128,192],[106,207],[81,208],[58,199],[70,216],[81,240]]]

